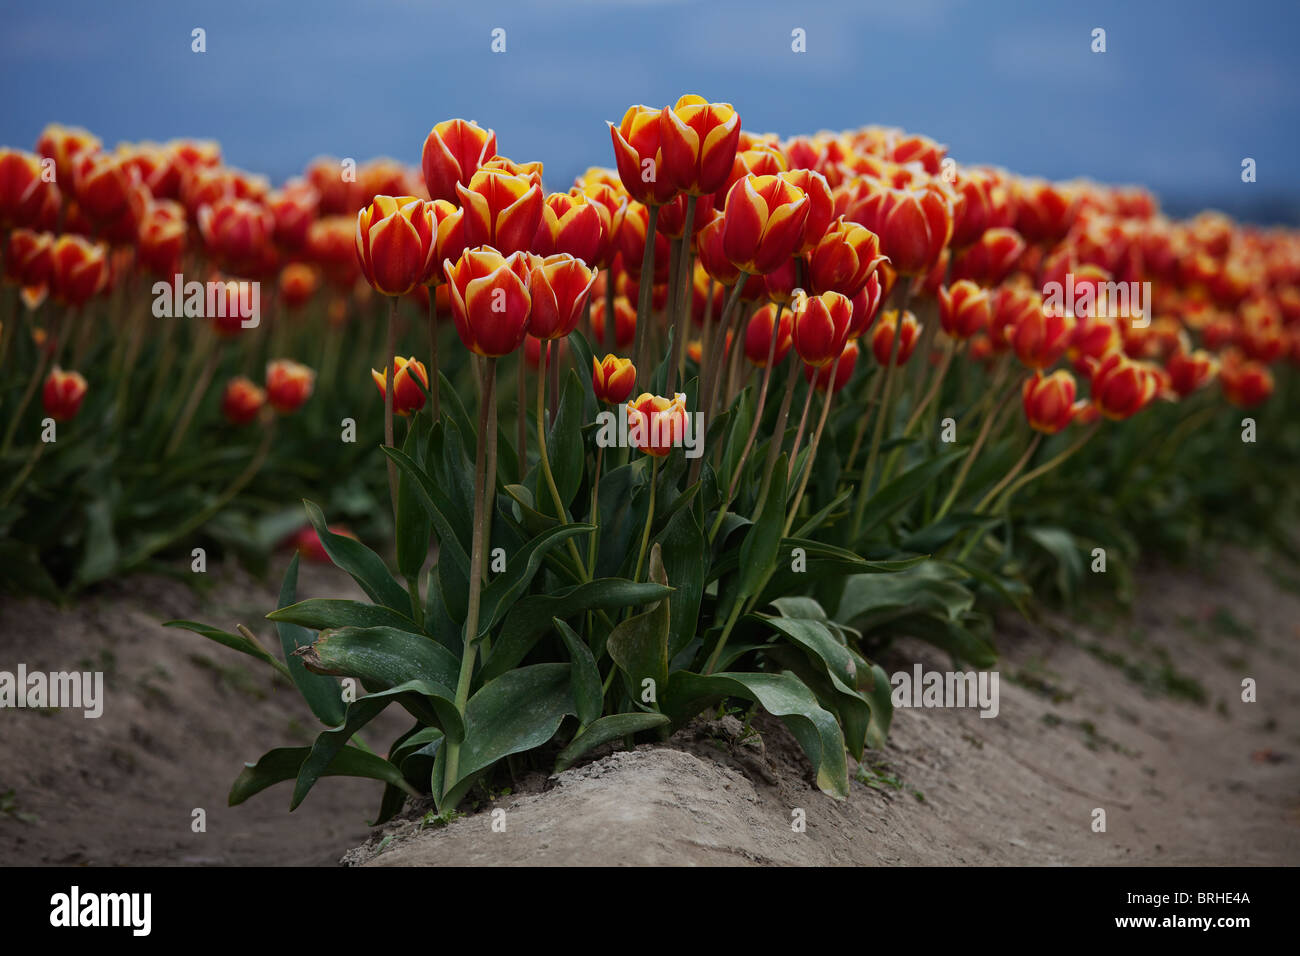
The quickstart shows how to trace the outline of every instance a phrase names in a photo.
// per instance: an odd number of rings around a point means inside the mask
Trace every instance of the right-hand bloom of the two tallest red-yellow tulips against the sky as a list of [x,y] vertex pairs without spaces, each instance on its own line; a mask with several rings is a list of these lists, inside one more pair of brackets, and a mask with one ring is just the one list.
[[659,140],[660,176],[688,195],[716,193],[736,160],[740,114],[729,103],[708,103],[688,94],[660,111]]

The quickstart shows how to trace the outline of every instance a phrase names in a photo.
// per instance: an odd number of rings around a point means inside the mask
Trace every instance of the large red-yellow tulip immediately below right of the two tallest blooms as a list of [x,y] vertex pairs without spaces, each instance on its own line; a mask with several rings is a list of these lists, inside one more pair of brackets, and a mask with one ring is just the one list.
[[803,190],[777,176],[746,176],[732,186],[723,211],[732,265],[759,276],[784,265],[803,241],[809,206]]

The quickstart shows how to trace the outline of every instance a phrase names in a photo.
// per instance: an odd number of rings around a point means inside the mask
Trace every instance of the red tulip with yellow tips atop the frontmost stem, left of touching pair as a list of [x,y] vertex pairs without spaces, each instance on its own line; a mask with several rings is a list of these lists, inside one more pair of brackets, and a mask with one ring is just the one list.
[[451,317],[465,347],[497,358],[515,351],[528,333],[532,297],[525,252],[503,256],[490,246],[465,250],[455,264],[442,263]]

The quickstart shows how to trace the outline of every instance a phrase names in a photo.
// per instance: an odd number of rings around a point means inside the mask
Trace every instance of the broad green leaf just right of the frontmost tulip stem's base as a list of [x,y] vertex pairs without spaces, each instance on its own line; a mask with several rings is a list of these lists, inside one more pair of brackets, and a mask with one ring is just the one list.
[[[464,799],[481,771],[502,757],[541,747],[559,730],[577,706],[569,687],[567,663],[534,663],[502,674],[469,698],[465,706],[465,737],[460,745],[459,779],[438,803],[454,808]],[[446,750],[443,750],[445,753]],[[441,760],[434,767],[434,793],[445,790]]]

